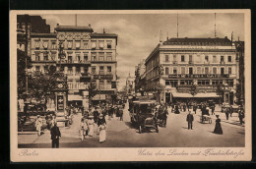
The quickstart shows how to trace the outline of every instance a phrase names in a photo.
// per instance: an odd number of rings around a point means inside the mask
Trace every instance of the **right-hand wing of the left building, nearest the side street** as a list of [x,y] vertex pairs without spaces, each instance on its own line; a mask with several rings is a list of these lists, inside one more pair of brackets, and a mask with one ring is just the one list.
[[117,34],[104,30],[103,33],[92,33],[90,42],[92,83],[96,84],[97,91],[93,101],[112,103],[117,93]]

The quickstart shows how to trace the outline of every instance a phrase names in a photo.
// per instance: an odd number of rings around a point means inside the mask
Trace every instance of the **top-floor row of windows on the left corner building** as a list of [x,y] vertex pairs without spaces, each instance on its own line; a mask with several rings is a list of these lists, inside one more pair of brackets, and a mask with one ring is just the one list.
[[[106,42],[104,42],[104,40],[92,40],[91,41],[91,45],[89,43],[89,40],[86,41],[73,41],[73,40],[68,40],[68,41],[64,41],[64,40],[60,40],[59,44],[61,45],[61,47],[63,47],[64,49],[80,49],[80,48],[84,48],[84,49],[111,49],[112,48],[112,40],[106,40]],[[44,49],[57,49],[57,43],[56,40],[44,40],[44,41],[39,41],[39,40],[34,40],[34,47],[35,49],[39,49],[40,46]]]

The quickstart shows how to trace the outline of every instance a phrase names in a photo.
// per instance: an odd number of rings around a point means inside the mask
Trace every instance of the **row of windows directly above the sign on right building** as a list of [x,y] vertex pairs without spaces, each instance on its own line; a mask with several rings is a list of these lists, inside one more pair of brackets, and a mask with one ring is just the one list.
[[[194,73],[196,74],[210,74],[210,67],[205,67],[205,68],[201,68],[201,67],[197,67],[196,72],[193,72],[193,68],[189,68],[188,69],[188,74],[192,75]],[[225,68],[221,68],[221,75],[225,74]],[[177,74],[177,67],[173,67],[173,74]],[[170,70],[168,67],[165,67],[165,75],[169,75],[171,74]],[[181,74],[186,74],[186,69],[185,67],[181,67]],[[217,68],[214,67],[213,68],[213,72],[212,74],[217,74]],[[227,74],[232,74],[232,67],[228,67],[227,68]]]

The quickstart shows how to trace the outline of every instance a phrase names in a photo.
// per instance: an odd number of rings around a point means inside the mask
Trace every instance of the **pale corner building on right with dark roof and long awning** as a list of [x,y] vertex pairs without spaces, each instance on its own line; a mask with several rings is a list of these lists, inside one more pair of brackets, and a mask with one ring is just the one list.
[[[237,83],[235,46],[227,38],[170,38],[146,59],[146,90],[160,89],[160,101],[219,99],[233,103]],[[162,86],[162,87],[161,87]]]

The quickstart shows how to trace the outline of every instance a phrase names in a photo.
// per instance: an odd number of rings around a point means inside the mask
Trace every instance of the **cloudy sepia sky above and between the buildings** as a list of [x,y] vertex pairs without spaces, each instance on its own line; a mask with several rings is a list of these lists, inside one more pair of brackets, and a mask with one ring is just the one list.
[[[57,24],[75,26],[75,14],[43,14],[51,31]],[[122,88],[129,73],[134,76],[135,66],[146,59],[160,42],[160,30],[163,40],[176,37],[176,14],[78,14],[77,26],[88,26],[95,32],[118,34],[117,44],[117,76],[120,78],[118,89]],[[230,39],[244,39],[243,14],[216,14],[217,36]],[[179,14],[179,37],[214,37],[215,14]]]

